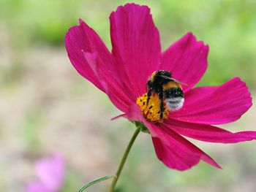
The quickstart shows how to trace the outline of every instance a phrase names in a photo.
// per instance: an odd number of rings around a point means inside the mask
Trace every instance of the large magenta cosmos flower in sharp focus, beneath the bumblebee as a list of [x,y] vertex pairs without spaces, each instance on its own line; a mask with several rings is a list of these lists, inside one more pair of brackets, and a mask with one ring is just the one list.
[[[70,28],[65,37],[72,65],[109,96],[124,112],[121,117],[148,128],[157,157],[166,166],[186,170],[203,160],[220,168],[182,136],[221,143],[256,139],[255,131],[232,133],[212,126],[238,120],[252,106],[252,98],[238,77],[223,85],[194,88],[207,69],[208,45],[198,42],[192,33],[161,52],[159,32],[150,9],[126,4],[110,15],[110,53],[97,33],[83,20],[79,21],[80,25]],[[157,116],[157,108],[153,112],[158,120],[152,120],[140,101],[136,104],[148,91],[148,77],[157,70],[171,72],[173,78],[187,84],[182,85],[184,106],[181,110],[167,111],[163,122]],[[159,100],[153,98],[150,102],[157,106]]]

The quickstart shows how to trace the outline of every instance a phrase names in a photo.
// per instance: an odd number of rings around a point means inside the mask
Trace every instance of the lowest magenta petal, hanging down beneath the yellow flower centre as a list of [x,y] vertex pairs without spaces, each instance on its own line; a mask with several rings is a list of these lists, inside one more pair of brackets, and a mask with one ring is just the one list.
[[[153,125],[154,126],[154,125]],[[152,128],[152,125],[151,125]],[[160,125],[161,137],[152,137],[157,157],[166,166],[184,171],[198,164],[200,160],[212,166],[221,167],[206,153],[181,137],[170,128]]]

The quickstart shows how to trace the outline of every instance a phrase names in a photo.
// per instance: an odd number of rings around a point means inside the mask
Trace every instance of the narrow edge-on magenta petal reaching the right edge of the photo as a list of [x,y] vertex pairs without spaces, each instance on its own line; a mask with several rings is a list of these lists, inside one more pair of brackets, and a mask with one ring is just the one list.
[[185,123],[171,119],[166,120],[165,124],[178,134],[204,142],[235,143],[256,139],[256,131],[232,133],[216,126]]

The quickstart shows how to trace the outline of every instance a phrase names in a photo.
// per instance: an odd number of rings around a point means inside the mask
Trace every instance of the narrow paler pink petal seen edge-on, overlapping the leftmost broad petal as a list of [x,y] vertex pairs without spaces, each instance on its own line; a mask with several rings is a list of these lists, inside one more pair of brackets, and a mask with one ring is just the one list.
[[127,112],[129,105],[132,103],[131,98],[129,98],[129,92],[120,85],[120,82],[113,78],[113,75],[102,69],[103,61],[97,53],[84,53],[84,57],[112,103],[122,112]]

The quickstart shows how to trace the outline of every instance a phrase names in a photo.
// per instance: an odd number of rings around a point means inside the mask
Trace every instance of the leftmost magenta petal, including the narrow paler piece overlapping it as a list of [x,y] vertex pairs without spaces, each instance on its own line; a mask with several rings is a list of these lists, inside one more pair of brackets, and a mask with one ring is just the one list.
[[99,36],[83,20],[69,29],[65,45],[75,69],[110,97],[119,110],[125,112],[132,93],[118,77],[112,55]]

